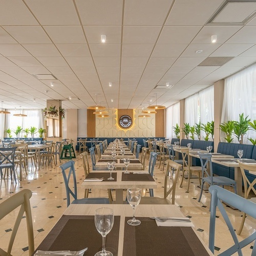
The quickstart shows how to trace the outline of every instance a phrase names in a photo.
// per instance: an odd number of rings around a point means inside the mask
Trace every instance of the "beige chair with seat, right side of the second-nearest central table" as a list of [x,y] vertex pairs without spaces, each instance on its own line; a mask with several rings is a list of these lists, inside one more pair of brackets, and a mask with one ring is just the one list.
[[[172,160],[166,161],[166,172],[164,177],[164,192],[163,198],[159,197],[142,197],[140,204],[174,204],[175,203],[175,191],[176,184],[179,179],[179,172],[182,168],[181,164],[178,164]],[[174,173],[175,172],[175,173]],[[172,179],[173,184],[167,190],[167,182],[169,179]],[[167,197],[172,192],[172,202],[170,202]]]

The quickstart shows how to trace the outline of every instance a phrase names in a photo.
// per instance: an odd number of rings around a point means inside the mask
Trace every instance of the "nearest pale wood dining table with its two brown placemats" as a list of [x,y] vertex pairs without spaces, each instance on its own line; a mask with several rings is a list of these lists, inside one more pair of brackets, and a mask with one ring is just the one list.
[[[106,236],[106,250],[114,256],[141,255],[214,255],[202,242],[197,231],[183,222],[168,221],[158,226],[151,217],[184,218],[176,205],[138,205],[138,226],[127,224],[133,216],[130,205],[70,204],[58,222],[39,244],[37,250],[71,250],[87,248],[84,256],[93,256],[102,249],[102,237],[95,222],[95,210],[108,207],[114,212],[114,225]],[[177,224],[178,223],[178,224]],[[42,254],[43,255],[43,254]]]

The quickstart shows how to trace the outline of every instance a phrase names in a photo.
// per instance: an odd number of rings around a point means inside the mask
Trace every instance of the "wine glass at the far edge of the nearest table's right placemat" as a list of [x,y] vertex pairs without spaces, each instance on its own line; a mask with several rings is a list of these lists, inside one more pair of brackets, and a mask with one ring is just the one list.
[[140,203],[141,199],[141,189],[134,187],[127,189],[127,201],[133,207],[133,219],[127,221],[129,225],[137,226],[141,222],[135,219],[135,207]]

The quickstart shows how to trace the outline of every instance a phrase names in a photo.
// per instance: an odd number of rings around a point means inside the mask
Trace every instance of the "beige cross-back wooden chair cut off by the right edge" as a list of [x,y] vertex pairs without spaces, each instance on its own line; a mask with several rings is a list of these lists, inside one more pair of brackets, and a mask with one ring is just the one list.
[[[244,181],[244,198],[248,199],[250,192],[252,191],[254,193],[254,195],[256,195],[256,189],[253,187],[256,184],[256,178],[250,182],[245,174],[245,170],[248,170],[248,172],[253,173],[254,175],[256,175],[256,165],[252,165],[252,164],[246,164],[246,163],[241,163],[239,162],[239,166],[242,172],[242,177],[243,177],[243,181]],[[250,198],[250,201],[256,203],[256,198]],[[244,222],[245,222],[245,218],[246,218],[246,213],[243,212],[243,219],[241,221],[239,230],[238,230],[238,234],[240,235],[243,227],[244,227]]]

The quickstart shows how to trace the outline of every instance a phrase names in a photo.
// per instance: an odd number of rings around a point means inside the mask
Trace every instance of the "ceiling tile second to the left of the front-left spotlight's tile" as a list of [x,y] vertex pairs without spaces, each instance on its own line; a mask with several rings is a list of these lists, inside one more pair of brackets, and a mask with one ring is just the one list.
[[12,26],[4,29],[19,44],[51,44],[51,40],[40,26]]

